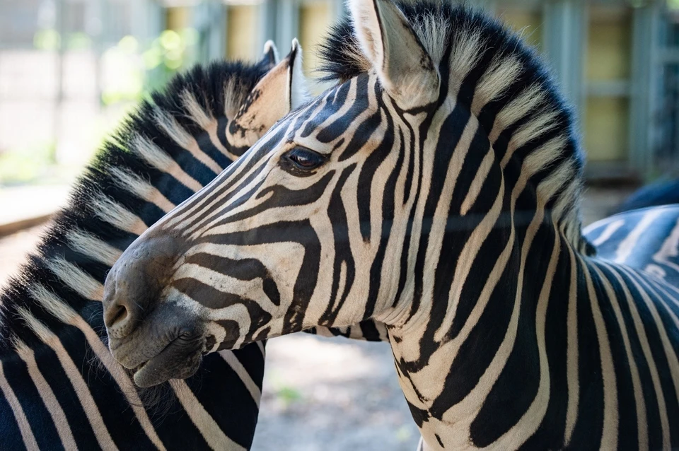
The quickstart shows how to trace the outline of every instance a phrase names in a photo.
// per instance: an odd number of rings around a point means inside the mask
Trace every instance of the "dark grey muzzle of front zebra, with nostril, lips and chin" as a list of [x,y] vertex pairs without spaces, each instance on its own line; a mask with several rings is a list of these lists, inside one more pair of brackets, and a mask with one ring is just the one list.
[[151,238],[130,246],[107,276],[104,323],[113,357],[139,387],[196,373],[206,351],[204,324],[163,291],[178,241]]

